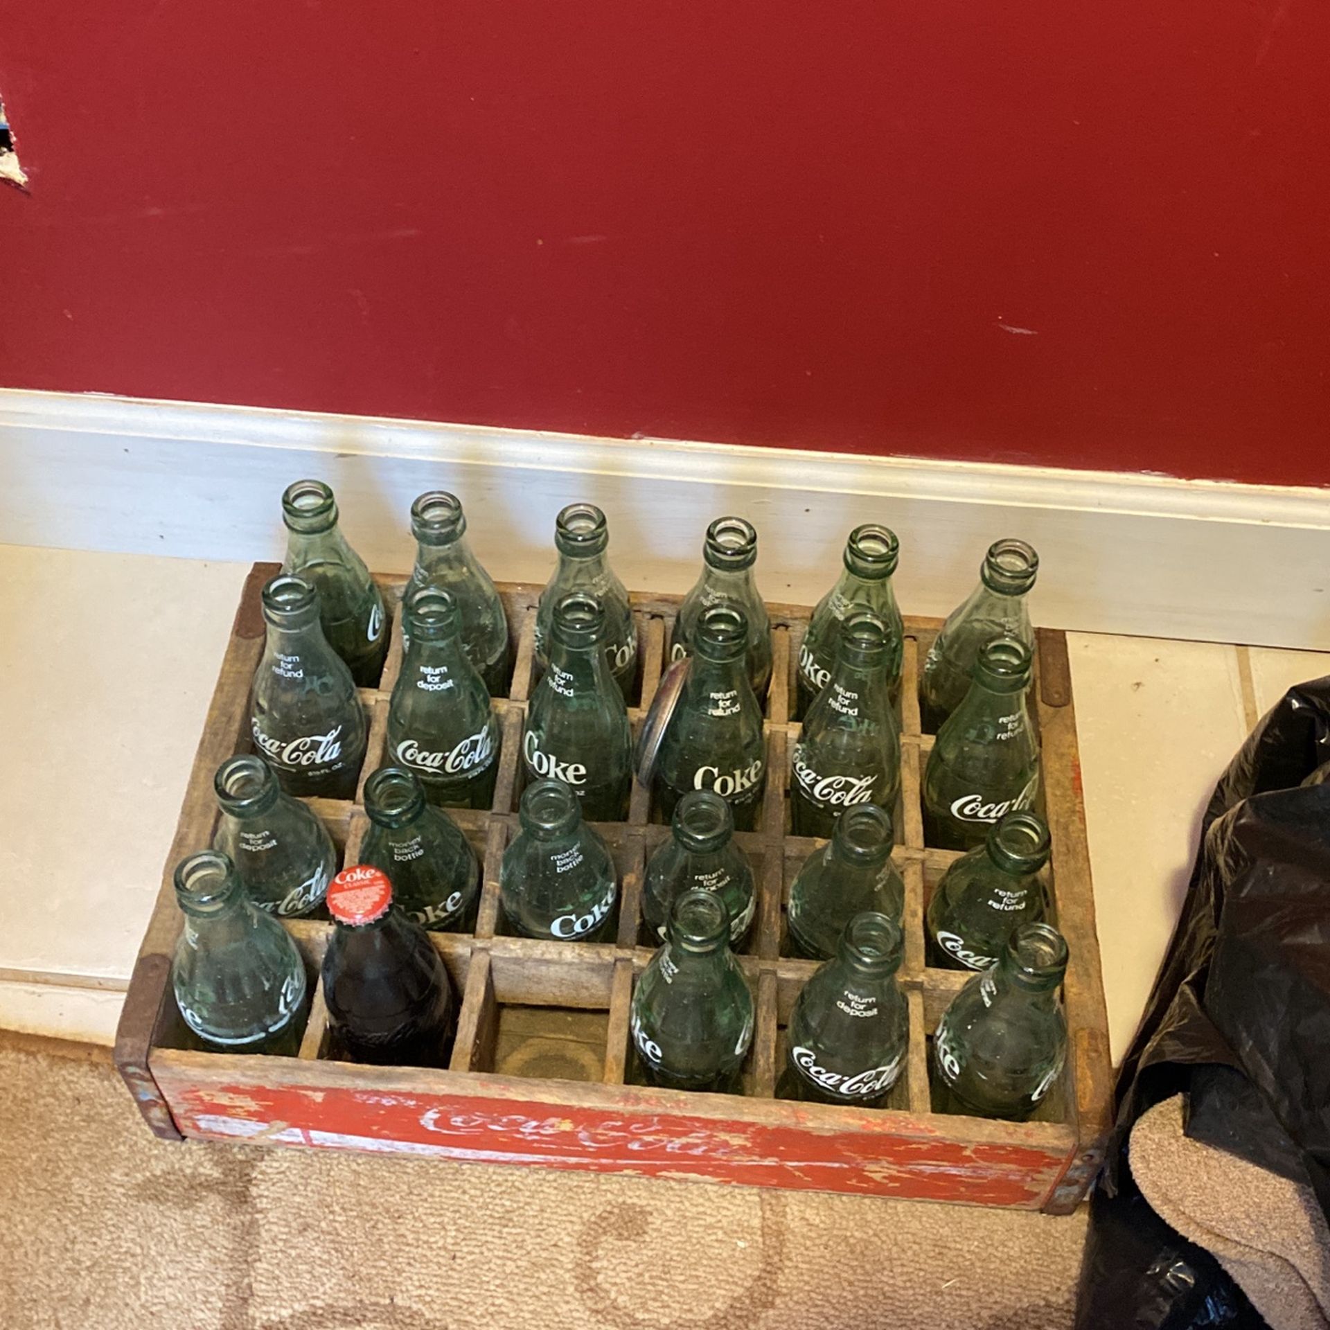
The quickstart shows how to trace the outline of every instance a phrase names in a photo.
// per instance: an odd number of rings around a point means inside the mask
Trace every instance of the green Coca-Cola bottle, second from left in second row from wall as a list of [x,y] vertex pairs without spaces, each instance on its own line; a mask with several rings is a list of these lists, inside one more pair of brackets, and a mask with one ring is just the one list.
[[419,777],[435,805],[488,809],[499,775],[499,717],[463,650],[452,592],[410,591],[402,605],[411,645],[388,702],[388,761]]

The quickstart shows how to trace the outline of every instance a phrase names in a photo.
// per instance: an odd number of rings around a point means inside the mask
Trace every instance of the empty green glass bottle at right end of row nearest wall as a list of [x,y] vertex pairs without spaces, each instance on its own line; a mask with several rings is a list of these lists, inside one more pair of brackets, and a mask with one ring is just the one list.
[[979,648],[995,637],[1017,637],[1031,652],[1025,596],[1039,573],[1039,555],[1023,540],[999,540],[988,547],[979,585],[942,625],[919,673],[919,713],[927,734],[936,734],[970,692]]

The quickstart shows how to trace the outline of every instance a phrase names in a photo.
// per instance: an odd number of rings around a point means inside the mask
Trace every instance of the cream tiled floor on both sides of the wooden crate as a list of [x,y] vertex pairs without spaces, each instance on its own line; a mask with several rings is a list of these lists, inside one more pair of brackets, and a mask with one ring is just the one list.
[[[0,545],[0,1025],[114,1037],[245,573]],[[1238,648],[1075,633],[1069,652],[1119,1057],[1254,712]],[[1330,672],[1330,656],[1249,658],[1260,710]]]

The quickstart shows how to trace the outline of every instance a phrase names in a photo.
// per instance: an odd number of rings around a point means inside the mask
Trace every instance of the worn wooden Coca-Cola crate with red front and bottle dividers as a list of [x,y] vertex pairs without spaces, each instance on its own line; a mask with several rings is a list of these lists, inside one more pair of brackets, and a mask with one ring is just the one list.
[[[505,936],[499,866],[516,831],[521,789],[519,743],[532,684],[539,588],[500,591],[515,642],[503,720],[500,771],[491,811],[455,810],[484,866],[475,934],[431,934],[447,963],[462,1011],[447,1071],[359,1067],[329,1053],[327,1011],[314,988],[298,1057],[209,1052],[181,1021],[170,988],[170,955],[181,927],[172,890],[176,862],[211,841],[217,821],[213,773],[250,747],[249,692],[263,646],[259,591],[277,572],[250,573],[222,662],[157,908],[134,968],[116,1059],[149,1127],[170,1138],[435,1154],[455,1160],[630,1172],[777,1188],[813,1188],[975,1205],[1071,1210],[1101,1156],[1109,1120],[1111,1067],[1099,944],[1076,747],[1067,644],[1037,633],[1035,717],[1052,831],[1049,870],[1056,923],[1071,963],[1063,987],[1069,1045],[1060,1081],[1028,1123],[934,1113],[928,1040],[947,1003],[970,978],[924,964],[923,912],[956,854],[924,845],[920,777],[932,737],[920,733],[919,664],[935,620],[906,620],[903,790],[895,858],[906,883],[904,963],[908,995],[907,1069],[890,1107],[839,1108],[774,1097],[785,1056],[785,1024],[815,964],[785,954],[785,902],[799,864],[819,843],[789,833],[794,666],[809,610],[770,605],[773,682],[766,702],[767,790],[761,827],[738,834],[758,884],[757,922],[739,964],[753,988],[757,1028],[742,1093],[712,1095],[632,1084],[628,1017],[633,983],[652,952],[637,946],[646,858],[668,835],[649,793],[634,786],[626,822],[601,823],[620,871],[614,943],[576,944]],[[386,600],[404,579],[379,579]],[[634,595],[641,672],[629,714],[641,724],[665,664],[680,597]],[[383,763],[388,697],[402,661],[394,633],[378,689],[362,690],[370,714],[364,770]],[[356,861],[366,817],[356,802],[310,801],[344,855]],[[287,923],[317,978],[330,923]]]

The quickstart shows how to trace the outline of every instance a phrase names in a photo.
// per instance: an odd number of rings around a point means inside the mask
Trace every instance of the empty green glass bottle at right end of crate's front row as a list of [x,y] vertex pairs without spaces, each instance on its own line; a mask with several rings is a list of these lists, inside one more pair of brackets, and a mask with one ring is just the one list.
[[1025,1119],[1061,1073],[1067,1019],[1057,987],[1067,943],[1047,923],[1023,923],[998,964],[951,1000],[932,1041],[934,1111]]

